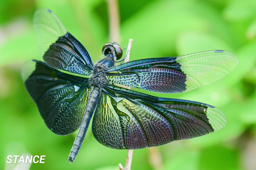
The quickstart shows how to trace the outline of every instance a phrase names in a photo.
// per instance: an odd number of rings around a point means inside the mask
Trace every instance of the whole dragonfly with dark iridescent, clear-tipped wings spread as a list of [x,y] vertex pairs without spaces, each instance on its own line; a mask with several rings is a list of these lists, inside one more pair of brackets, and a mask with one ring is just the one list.
[[156,147],[226,125],[226,116],[209,104],[155,97],[127,87],[165,94],[191,91],[231,72],[239,63],[235,54],[212,50],[122,64],[122,48],[107,43],[104,58],[94,64],[51,10],[35,11],[33,28],[44,62],[27,61],[22,79],[47,128],[57,135],[79,129],[68,162],[75,160],[93,114],[94,137],[113,149]]

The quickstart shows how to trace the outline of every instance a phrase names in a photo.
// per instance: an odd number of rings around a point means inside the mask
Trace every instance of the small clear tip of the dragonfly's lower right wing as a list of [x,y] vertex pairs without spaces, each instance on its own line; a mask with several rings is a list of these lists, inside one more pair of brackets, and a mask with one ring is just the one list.
[[222,129],[227,124],[226,116],[216,107],[208,106],[206,115],[214,132]]

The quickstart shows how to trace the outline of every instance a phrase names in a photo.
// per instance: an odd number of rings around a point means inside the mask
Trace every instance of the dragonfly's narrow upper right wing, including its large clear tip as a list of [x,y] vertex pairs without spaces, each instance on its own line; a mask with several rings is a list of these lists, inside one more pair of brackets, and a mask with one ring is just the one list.
[[233,53],[214,50],[131,61],[108,69],[106,76],[115,84],[161,93],[180,93],[223,78],[238,62]]

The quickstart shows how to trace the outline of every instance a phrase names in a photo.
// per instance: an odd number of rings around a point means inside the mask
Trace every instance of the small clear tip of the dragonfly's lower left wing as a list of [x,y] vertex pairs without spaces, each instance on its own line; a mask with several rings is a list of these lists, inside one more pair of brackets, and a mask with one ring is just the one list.
[[34,72],[35,65],[37,63],[34,60],[29,60],[25,62],[20,70],[23,83],[29,78],[29,76]]

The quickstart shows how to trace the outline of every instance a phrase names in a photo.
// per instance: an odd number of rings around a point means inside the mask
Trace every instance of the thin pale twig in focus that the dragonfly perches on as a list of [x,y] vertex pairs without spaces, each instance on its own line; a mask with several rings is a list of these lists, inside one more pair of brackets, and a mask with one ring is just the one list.
[[[129,39],[129,43],[128,43],[126,54],[125,54],[125,56],[126,56],[125,62],[130,61],[130,51],[131,51],[132,41],[133,41],[133,39]],[[130,87],[129,87],[129,89],[130,89]],[[122,164],[118,164],[120,170],[130,170],[131,169],[132,154],[133,154],[133,150],[128,150],[125,168],[122,166]]]

